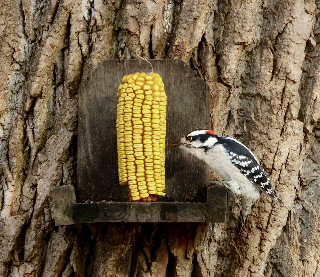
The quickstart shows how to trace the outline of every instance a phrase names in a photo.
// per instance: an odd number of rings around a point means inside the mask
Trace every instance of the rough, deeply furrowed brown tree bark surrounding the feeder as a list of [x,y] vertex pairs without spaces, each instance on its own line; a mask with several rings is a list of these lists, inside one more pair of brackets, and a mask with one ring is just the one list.
[[[320,2],[0,3],[0,276],[320,276]],[[108,58],[183,59],[211,87],[212,128],[250,147],[266,196],[227,224],[54,227],[75,185],[77,85]]]

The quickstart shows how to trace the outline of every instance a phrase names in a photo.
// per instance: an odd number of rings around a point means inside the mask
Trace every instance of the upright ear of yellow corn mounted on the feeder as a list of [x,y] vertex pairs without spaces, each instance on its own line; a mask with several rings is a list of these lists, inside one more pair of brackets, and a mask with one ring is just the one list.
[[120,185],[132,200],[163,196],[167,97],[157,73],[125,75],[118,87],[117,151]]

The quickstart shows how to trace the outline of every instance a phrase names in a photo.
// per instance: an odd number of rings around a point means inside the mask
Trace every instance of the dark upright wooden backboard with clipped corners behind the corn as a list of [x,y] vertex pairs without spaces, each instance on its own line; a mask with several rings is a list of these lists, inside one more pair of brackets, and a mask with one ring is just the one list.
[[[196,128],[209,128],[209,87],[181,60],[150,60],[168,98],[166,195],[162,202],[205,202],[208,166],[168,145]],[[150,72],[143,60],[104,61],[79,86],[77,200],[128,201],[119,186],[116,91],[124,75]]]

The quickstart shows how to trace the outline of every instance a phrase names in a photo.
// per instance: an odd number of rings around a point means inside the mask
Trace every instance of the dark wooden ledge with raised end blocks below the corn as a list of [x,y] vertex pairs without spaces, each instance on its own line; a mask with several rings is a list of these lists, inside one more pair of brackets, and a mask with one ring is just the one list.
[[229,193],[223,182],[213,181],[205,203],[93,202],[76,203],[73,186],[52,190],[55,225],[93,222],[214,222],[228,221]]

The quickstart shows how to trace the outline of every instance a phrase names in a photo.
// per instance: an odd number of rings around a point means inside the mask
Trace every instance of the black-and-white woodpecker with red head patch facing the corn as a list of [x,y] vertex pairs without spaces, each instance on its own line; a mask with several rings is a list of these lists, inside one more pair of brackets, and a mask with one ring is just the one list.
[[180,146],[206,162],[229,183],[228,188],[233,193],[241,196],[238,233],[241,232],[247,215],[262,192],[284,206],[272,190],[270,179],[255,155],[236,139],[218,137],[213,131],[196,129],[170,146]]

